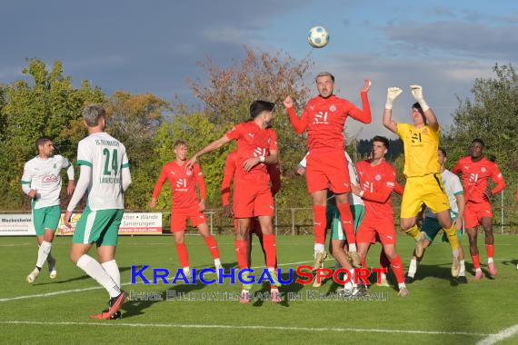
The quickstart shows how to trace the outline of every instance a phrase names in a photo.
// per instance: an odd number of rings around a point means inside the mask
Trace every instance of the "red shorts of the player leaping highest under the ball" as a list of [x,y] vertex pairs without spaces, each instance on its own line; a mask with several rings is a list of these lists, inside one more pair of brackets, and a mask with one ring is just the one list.
[[334,193],[351,192],[351,179],[347,160],[342,148],[340,151],[313,151],[307,155],[307,190],[313,192],[330,189]]

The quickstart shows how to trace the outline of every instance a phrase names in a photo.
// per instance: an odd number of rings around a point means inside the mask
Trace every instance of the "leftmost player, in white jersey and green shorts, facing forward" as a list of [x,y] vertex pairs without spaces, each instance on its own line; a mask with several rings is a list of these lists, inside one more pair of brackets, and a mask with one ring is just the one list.
[[61,218],[61,170],[66,169],[68,175],[67,194],[74,192],[74,166],[62,155],[54,154],[54,143],[47,136],[36,141],[35,158],[25,163],[22,176],[22,190],[31,199],[33,209],[33,225],[38,242],[38,256],[35,269],[27,276],[26,281],[33,283],[40,271],[48,262],[51,279],[55,279],[55,258],[51,254],[54,234]]

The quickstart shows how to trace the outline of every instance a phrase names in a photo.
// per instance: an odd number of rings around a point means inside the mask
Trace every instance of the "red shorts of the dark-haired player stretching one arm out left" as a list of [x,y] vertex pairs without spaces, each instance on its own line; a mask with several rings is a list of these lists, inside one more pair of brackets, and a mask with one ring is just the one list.
[[274,197],[270,190],[270,179],[243,179],[236,176],[234,182],[234,217],[253,218],[274,216]]

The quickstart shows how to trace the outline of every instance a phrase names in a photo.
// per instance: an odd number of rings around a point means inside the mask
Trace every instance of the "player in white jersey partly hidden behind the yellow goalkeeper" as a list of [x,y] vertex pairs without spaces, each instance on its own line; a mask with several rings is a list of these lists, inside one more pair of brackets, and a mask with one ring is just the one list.
[[[459,271],[459,277],[457,281],[460,284],[466,284],[468,281],[465,275],[465,264],[464,264],[464,251],[463,246],[461,245],[461,236],[463,234],[463,214],[464,214],[464,192],[463,185],[459,177],[454,173],[446,170],[446,150],[443,148],[439,148],[439,164],[441,164],[441,178],[443,179],[444,189],[446,190],[446,194],[448,195],[448,199],[450,201],[450,213],[452,217],[452,221],[455,222],[455,226],[457,227],[457,236],[459,238],[459,259],[461,264],[461,269]],[[437,222],[437,217],[433,212],[429,209],[425,210],[425,217],[423,221],[423,225],[421,226],[421,231],[426,233],[426,239],[423,242],[423,255],[424,250],[428,248],[437,233],[442,230],[441,225]],[[445,234],[443,234],[443,242],[448,242],[448,238]],[[418,259],[413,253],[412,260],[410,261],[410,266],[408,268],[408,273],[406,275],[406,279],[404,280],[406,283],[413,282],[415,277],[415,273],[417,272],[417,263],[423,260],[423,256]]]

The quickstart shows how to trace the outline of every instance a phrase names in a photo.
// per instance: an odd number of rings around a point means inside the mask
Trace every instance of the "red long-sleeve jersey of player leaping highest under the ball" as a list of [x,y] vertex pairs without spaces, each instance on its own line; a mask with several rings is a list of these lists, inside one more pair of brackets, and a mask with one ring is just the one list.
[[344,150],[344,125],[347,116],[362,123],[371,123],[371,107],[367,93],[362,93],[364,110],[351,102],[331,95],[328,98],[316,96],[309,100],[299,118],[294,108],[288,108],[290,121],[295,132],[307,130],[307,145],[314,150]]

